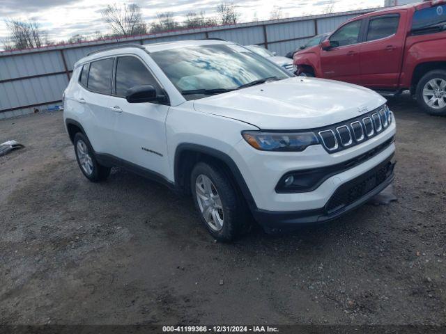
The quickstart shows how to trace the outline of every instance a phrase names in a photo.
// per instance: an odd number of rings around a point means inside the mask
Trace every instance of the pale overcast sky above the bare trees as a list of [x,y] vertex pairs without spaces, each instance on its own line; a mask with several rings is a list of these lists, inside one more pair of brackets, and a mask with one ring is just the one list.
[[[150,22],[156,13],[171,11],[178,20],[190,11],[204,10],[206,15],[215,15],[215,7],[222,0],[134,0],[142,10],[146,22]],[[242,14],[242,22],[268,19],[274,3],[282,10],[284,17],[298,17],[323,13],[331,2],[333,11],[341,12],[360,8],[383,6],[384,0],[235,0],[233,3]],[[94,31],[108,33],[107,24],[102,22],[101,10],[108,3],[121,3],[113,0],[0,0],[0,40],[8,35],[4,19],[35,19],[41,29],[47,31],[50,40],[67,40],[80,33],[92,34]]]

